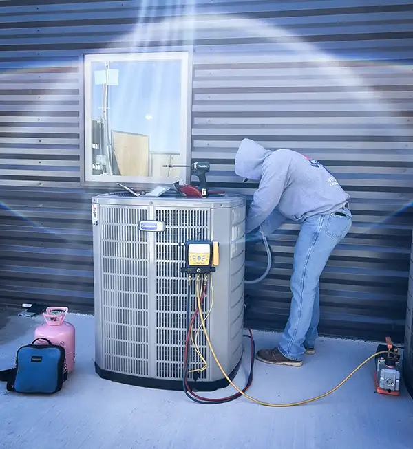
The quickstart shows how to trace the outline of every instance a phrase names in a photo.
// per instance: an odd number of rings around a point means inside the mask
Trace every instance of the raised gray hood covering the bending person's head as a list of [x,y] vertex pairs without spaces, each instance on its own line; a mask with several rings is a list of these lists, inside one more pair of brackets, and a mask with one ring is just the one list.
[[235,155],[235,174],[244,179],[260,181],[262,164],[272,151],[251,139],[242,140]]

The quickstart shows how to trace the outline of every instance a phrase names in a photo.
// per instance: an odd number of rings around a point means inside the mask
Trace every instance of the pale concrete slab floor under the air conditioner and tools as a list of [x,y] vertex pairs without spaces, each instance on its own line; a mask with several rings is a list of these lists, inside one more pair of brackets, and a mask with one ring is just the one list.
[[[0,369],[32,340],[41,317],[0,311]],[[157,391],[100,379],[94,373],[94,318],[72,315],[76,326],[76,372],[50,397],[7,393],[0,385],[1,449],[411,449],[413,400],[374,393],[370,362],[332,395],[306,406],[267,408],[247,399],[198,405],[182,392]],[[277,336],[255,332],[257,348]],[[246,342],[248,345],[248,342]],[[338,384],[374,352],[377,344],[322,338],[304,366],[257,362],[249,394],[267,402],[319,395]],[[246,358],[248,358],[248,347]],[[247,360],[244,366],[248,366]],[[245,370],[235,383],[243,386]],[[233,393],[232,388],[211,396]]]

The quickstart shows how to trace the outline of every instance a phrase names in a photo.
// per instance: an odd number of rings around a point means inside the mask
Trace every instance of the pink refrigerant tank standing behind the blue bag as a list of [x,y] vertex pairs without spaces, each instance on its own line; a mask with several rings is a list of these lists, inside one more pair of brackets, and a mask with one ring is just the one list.
[[[70,322],[65,321],[68,311],[67,307],[47,307],[43,314],[45,323],[36,327],[34,338],[47,338],[51,343],[65,348],[67,373],[71,373],[74,370],[75,330]],[[38,340],[36,344],[45,342]]]

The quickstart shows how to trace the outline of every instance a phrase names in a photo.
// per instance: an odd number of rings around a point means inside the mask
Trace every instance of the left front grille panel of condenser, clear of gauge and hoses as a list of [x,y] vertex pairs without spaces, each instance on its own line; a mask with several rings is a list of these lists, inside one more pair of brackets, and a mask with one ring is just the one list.
[[105,369],[148,375],[148,242],[138,223],[145,208],[101,208]]

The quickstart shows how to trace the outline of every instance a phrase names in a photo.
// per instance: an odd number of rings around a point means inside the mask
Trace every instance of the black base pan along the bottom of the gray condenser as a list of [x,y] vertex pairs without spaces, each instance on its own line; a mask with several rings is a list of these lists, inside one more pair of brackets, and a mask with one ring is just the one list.
[[[235,369],[229,374],[231,380],[237,375],[238,369],[240,368],[241,360],[235,366]],[[128,374],[114,373],[112,371],[106,371],[101,369],[95,362],[95,371],[102,377],[102,379],[112,380],[113,382],[119,382],[120,384],[128,384],[134,386],[143,386],[145,388],[156,388],[158,390],[176,390],[183,391],[182,380],[163,380],[163,379],[153,379],[149,377],[138,377]],[[213,382],[188,382],[189,387],[193,391],[215,391],[220,388],[225,388],[229,386],[229,382],[224,378],[215,380]]]

